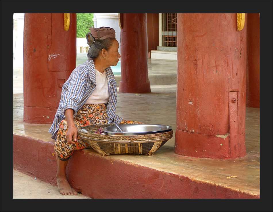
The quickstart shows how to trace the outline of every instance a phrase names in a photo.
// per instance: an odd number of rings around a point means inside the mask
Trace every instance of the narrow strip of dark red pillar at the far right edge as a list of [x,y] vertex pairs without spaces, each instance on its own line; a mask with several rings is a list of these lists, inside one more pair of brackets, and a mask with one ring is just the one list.
[[260,14],[247,14],[246,106],[260,107]]

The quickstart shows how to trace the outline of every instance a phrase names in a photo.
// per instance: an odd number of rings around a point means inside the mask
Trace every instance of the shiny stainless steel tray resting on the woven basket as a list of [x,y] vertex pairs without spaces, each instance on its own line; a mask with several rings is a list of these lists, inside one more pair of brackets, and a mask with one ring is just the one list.
[[162,124],[121,124],[119,126],[123,132],[120,132],[117,126],[104,127],[102,130],[106,135],[147,135],[172,130],[171,126]]

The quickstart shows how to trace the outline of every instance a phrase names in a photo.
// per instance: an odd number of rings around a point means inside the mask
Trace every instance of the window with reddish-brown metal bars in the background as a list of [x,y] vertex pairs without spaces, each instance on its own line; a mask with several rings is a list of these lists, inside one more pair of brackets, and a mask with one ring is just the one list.
[[163,46],[176,46],[176,27],[177,27],[176,13],[164,13],[162,18],[163,25]]

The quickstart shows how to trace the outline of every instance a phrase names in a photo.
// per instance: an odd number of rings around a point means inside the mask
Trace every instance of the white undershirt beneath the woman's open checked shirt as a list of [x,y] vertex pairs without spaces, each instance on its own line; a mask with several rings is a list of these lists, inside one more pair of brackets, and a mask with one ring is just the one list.
[[85,105],[107,104],[109,101],[108,82],[105,70],[103,73],[95,69],[96,72],[96,88],[89,98],[85,101]]

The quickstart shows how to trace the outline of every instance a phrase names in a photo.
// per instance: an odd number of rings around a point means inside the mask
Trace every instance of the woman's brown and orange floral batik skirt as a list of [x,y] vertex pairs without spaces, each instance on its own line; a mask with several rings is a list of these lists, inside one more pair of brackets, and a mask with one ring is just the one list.
[[[76,128],[93,124],[107,124],[108,116],[106,113],[107,106],[105,104],[83,105],[74,117],[74,124]],[[66,161],[73,154],[76,149],[91,148],[91,146],[84,142],[78,135],[76,144],[72,145],[66,141],[66,132],[68,126],[66,119],[59,124],[57,139],[55,143],[55,152],[60,160]],[[74,139],[74,138],[72,138]]]

